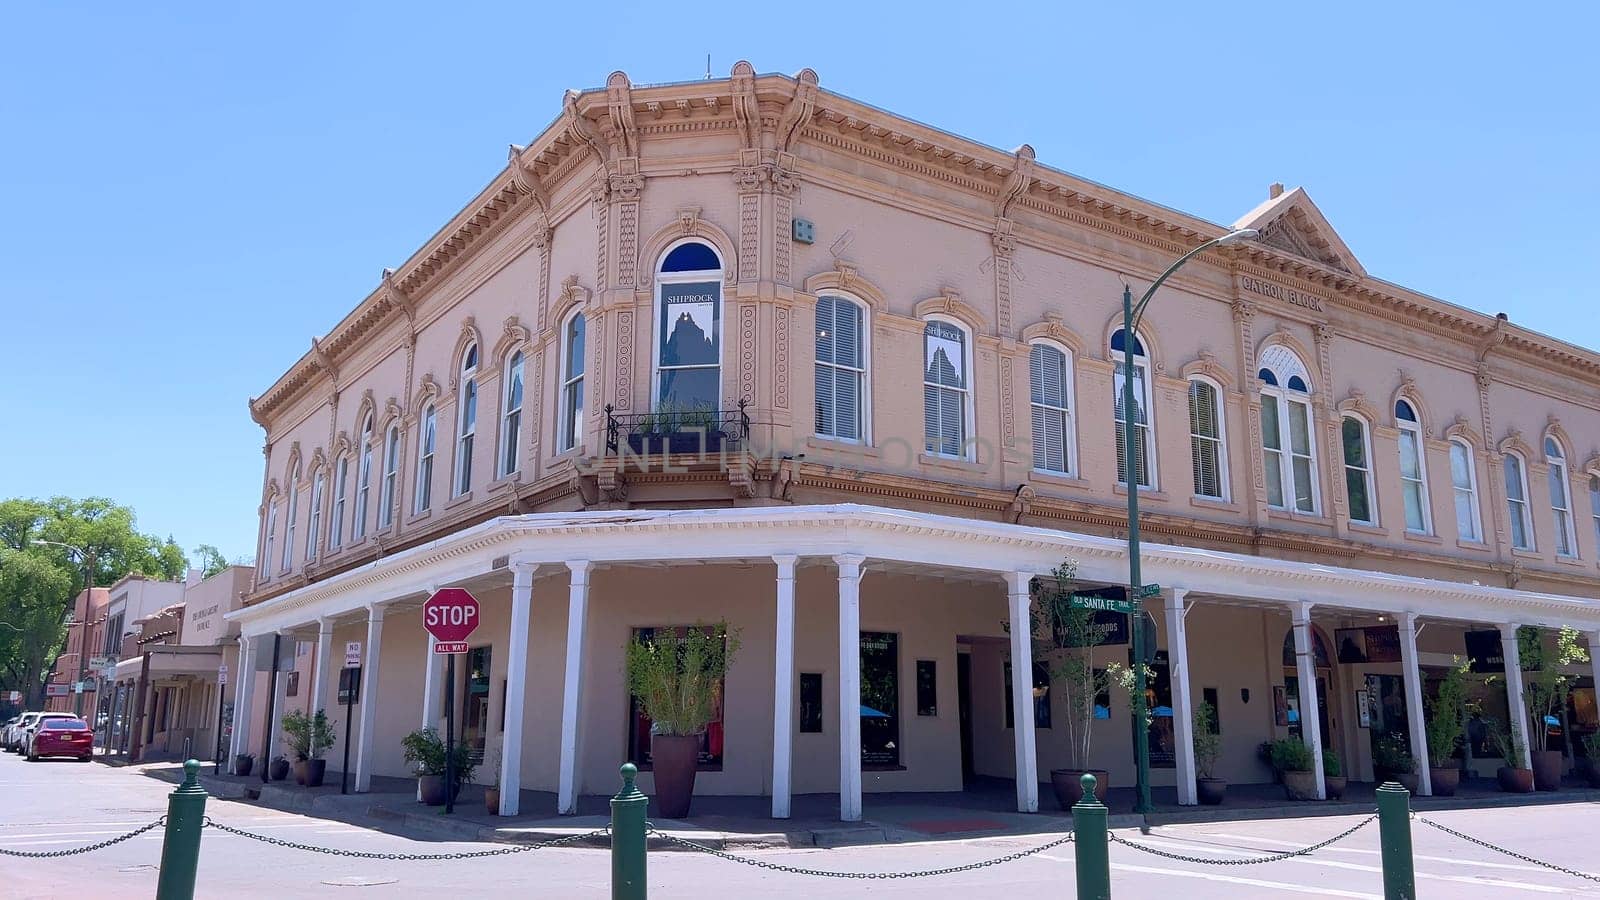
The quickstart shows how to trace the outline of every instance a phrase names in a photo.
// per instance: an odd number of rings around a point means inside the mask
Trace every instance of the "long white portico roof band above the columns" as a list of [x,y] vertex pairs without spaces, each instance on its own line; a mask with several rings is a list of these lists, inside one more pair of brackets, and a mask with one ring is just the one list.
[[[517,564],[736,562],[795,554],[992,572],[1048,573],[1075,559],[1086,581],[1126,580],[1122,540],[854,503],[734,509],[626,509],[502,516],[227,613],[245,634],[322,617]],[[1270,604],[1323,604],[1482,623],[1600,631],[1600,601],[1222,552],[1141,546],[1144,575],[1163,588]]]

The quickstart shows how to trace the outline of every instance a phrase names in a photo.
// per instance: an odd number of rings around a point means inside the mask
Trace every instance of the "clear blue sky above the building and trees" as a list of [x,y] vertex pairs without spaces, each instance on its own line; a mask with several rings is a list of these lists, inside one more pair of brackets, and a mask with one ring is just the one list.
[[1213,221],[1302,184],[1371,274],[1600,346],[1592,3],[1162,6],[11,5],[0,496],[253,554],[245,400],[565,88],[707,53]]

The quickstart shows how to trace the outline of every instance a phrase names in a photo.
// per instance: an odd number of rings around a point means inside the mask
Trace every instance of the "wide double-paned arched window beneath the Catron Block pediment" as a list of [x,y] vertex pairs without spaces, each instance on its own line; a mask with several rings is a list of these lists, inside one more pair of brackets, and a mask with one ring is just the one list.
[[1267,506],[1317,512],[1317,445],[1310,408],[1310,373],[1294,351],[1274,344],[1261,352],[1261,450]]

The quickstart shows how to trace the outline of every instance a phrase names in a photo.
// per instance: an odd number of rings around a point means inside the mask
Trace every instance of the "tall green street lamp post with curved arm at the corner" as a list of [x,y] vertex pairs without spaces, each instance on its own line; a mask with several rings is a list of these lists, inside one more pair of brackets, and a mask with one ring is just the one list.
[[1128,487],[1128,599],[1138,601],[1139,613],[1138,620],[1133,621],[1133,721],[1134,721],[1134,741],[1133,741],[1133,759],[1138,765],[1138,783],[1139,796],[1134,801],[1134,812],[1144,815],[1150,812],[1150,725],[1146,722],[1146,703],[1144,703],[1144,665],[1146,665],[1146,647],[1144,647],[1144,605],[1139,599],[1141,588],[1144,586],[1144,578],[1139,573],[1139,444],[1134,440],[1138,434],[1138,423],[1134,420],[1136,410],[1142,415],[1144,410],[1134,402],[1133,391],[1133,343],[1136,340],[1139,320],[1144,319],[1144,309],[1150,304],[1150,298],[1155,296],[1157,288],[1162,287],[1166,279],[1173,275],[1178,269],[1184,267],[1186,263],[1195,256],[1205,253],[1213,247],[1226,247],[1229,243],[1238,243],[1240,240],[1248,240],[1256,237],[1259,232],[1251,227],[1243,227],[1230,231],[1222,237],[1211,239],[1200,247],[1195,247],[1189,253],[1184,253],[1165,272],[1144,291],[1139,303],[1133,303],[1133,290],[1128,285],[1122,288],[1122,445],[1123,445],[1123,464],[1126,466],[1122,472],[1123,484]]

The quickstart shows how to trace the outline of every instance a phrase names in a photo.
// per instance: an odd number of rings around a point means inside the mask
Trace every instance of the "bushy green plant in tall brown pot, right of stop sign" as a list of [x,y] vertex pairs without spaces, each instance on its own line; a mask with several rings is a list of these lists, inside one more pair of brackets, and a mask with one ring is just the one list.
[[656,802],[666,818],[683,818],[694,796],[701,733],[722,703],[739,634],[726,621],[658,629],[627,642],[627,689],[650,717]]

